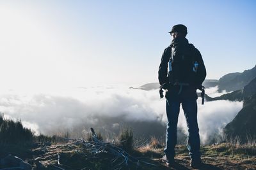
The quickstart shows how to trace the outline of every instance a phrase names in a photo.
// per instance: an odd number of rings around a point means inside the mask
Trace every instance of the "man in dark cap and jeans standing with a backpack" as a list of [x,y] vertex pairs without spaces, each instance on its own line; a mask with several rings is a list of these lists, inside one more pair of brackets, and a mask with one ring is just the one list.
[[163,160],[169,166],[174,166],[175,145],[177,143],[177,123],[180,104],[184,110],[188,126],[188,150],[191,167],[198,168],[200,159],[200,137],[197,124],[197,94],[202,90],[206,70],[200,52],[188,43],[187,27],[179,24],[172,27],[173,40],[162,55],[158,71],[161,87],[166,90],[166,147]]

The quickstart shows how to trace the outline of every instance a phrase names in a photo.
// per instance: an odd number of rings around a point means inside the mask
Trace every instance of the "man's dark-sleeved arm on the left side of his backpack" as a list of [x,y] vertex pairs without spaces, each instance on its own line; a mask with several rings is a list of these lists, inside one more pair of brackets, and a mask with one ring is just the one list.
[[158,70],[158,80],[160,85],[163,85],[163,83],[168,83],[168,62],[170,59],[170,56],[172,55],[172,48],[168,46],[165,48],[161,63]]

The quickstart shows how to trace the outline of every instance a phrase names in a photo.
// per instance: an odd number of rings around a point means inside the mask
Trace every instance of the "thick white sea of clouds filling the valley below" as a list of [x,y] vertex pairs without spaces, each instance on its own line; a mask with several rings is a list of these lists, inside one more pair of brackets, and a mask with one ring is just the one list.
[[[218,87],[206,89],[211,97],[220,96]],[[209,144],[243,107],[238,101],[205,101],[198,98],[198,125],[202,144]],[[58,134],[71,131],[73,137],[88,133],[90,127],[113,132],[125,126],[145,136],[164,136],[165,100],[158,90],[129,89],[124,85],[79,87],[0,93],[0,112],[4,117],[21,119],[36,134]],[[136,128],[135,128],[136,127]],[[180,110],[178,127],[187,133],[186,119]],[[76,132],[77,131],[77,132]],[[77,134],[77,135],[76,135]]]

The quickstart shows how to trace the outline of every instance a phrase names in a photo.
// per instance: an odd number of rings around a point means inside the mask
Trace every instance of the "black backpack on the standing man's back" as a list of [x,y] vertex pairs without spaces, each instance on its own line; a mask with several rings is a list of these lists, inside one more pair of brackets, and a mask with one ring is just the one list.
[[196,85],[198,61],[192,44],[173,45],[168,64],[168,78],[171,85]]

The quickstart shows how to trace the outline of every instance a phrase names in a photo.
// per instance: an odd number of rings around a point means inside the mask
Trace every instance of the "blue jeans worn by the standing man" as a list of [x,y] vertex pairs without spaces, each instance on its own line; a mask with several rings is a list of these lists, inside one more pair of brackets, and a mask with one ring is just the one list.
[[[197,103],[196,99],[180,97],[178,100],[171,100],[166,97],[166,148],[164,153],[169,158],[175,157],[175,145],[177,144],[177,123],[180,112],[180,103],[184,110],[188,126],[188,150],[191,159],[200,159],[200,137],[197,124]],[[182,99],[183,98],[183,99]]]

